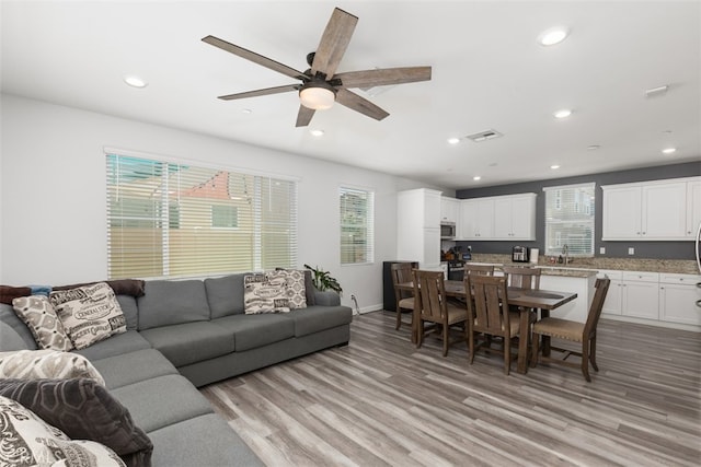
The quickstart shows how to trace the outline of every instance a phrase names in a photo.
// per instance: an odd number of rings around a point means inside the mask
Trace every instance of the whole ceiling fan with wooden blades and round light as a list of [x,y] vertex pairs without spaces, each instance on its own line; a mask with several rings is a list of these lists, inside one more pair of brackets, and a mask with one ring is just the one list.
[[334,102],[375,118],[376,120],[383,119],[390,114],[360,95],[348,91],[348,87],[375,87],[429,81],[430,67],[387,68],[336,73],[336,68],[348,47],[357,22],[357,16],[338,8],[334,9],[329,24],[326,24],[326,28],[321,36],[317,51],[307,55],[307,62],[310,68],[304,72],[297,71],[294,68],[246,50],[243,47],[230,44],[218,37],[203,37],[203,40],[207,44],[301,81],[301,83],[297,84],[221,95],[219,98],[232,101],[298,91],[300,106],[299,113],[297,114],[297,127],[306,127],[309,125],[311,118],[314,116],[314,112],[330,108]]

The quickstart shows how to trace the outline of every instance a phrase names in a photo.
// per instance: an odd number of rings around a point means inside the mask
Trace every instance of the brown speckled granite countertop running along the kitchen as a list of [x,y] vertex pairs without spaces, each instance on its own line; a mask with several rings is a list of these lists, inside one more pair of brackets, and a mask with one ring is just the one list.
[[[680,275],[699,275],[697,261],[691,259],[647,259],[647,258],[573,258],[567,266],[551,264],[541,256],[538,265],[527,262],[512,262],[512,255],[472,254],[473,264],[490,264],[495,266],[538,266],[543,268],[543,275],[588,277],[599,270],[622,270],[644,272],[667,272]],[[589,271],[587,271],[589,270]]]

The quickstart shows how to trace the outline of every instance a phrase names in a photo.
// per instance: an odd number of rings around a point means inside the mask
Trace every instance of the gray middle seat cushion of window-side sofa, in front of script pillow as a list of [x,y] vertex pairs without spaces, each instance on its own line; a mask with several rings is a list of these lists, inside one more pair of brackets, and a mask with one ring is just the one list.
[[254,349],[295,337],[294,322],[284,315],[234,315],[212,319],[211,324],[234,336],[235,351]]

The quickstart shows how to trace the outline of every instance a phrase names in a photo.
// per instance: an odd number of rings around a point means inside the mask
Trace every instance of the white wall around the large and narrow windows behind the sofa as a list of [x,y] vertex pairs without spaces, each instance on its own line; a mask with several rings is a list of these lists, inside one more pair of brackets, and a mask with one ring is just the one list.
[[[361,310],[382,303],[382,261],[395,259],[397,197],[421,183],[198,133],[1,95],[0,283],[106,278],[104,147],[299,177],[299,261],[320,266]],[[376,192],[376,262],[340,265],[337,188]],[[434,187],[435,188],[435,187]]]

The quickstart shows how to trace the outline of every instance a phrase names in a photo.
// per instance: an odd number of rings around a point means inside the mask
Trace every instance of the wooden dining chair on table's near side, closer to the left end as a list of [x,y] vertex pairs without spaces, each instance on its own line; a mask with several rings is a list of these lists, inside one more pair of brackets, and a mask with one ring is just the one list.
[[[468,312],[464,306],[448,302],[443,271],[424,271],[414,269],[414,317],[416,325],[416,348],[421,348],[426,334],[425,324],[439,326],[443,334],[443,355],[448,354],[448,347],[464,341],[464,327]],[[450,329],[461,326],[461,339],[450,341]],[[436,326],[434,326],[436,327]]]

